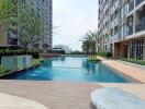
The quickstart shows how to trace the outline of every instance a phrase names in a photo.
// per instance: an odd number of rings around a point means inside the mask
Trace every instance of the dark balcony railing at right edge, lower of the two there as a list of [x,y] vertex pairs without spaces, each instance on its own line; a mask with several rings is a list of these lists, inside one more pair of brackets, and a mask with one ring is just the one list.
[[145,17],[140,19],[140,22],[136,24],[135,32],[145,31]]

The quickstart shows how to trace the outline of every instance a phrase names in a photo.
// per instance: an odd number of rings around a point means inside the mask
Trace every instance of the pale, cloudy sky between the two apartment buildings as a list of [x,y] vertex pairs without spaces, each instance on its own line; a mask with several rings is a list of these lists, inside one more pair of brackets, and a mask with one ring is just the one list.
[[53,46],[81,50],[80,39],[98,27],[98,0],[53,0]]

